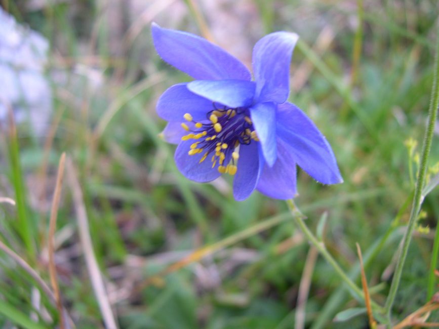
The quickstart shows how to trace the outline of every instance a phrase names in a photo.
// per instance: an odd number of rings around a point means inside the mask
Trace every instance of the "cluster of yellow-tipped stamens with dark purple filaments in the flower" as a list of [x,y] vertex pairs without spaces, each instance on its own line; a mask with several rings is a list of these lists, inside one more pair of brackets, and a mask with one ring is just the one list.
[[[214,105],[215,107],[215,105]],[[240,157],[238,146],[249,145],[252,140],[258,142],[258,136],[245,108],[216,108],[207,113],[207,120],[196,122],[190,113],[184,114],[187,121],[181,124],[189,134],[183,141],[194,139],[190,145],[189,155],[203,153],[199,163],[212,154],[212,168],[229,175],[236,174],[237,160]]]

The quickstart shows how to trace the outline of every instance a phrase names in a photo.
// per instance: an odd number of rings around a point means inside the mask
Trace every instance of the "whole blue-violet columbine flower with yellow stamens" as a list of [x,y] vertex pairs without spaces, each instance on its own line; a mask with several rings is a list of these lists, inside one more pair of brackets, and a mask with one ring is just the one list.
[[296,195],[296,164],[318,182],[341,183],[330,145],[288,103],[289,66],[298,36],[275,32],[253,49],[255,81],[246,66],[199,36],[152,24],[157,53],[195,81],[169,88],[157,113],[164,137],[178,144],[180,172],[196,182],[234,175],[233,195],[257,189],[278,199]]

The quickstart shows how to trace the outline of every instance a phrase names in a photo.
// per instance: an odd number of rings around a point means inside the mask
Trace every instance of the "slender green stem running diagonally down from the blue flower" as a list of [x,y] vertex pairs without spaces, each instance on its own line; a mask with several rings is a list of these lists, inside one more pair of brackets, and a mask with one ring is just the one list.
[[[295,221],[296,225],[300,227],[303,234],[305,234],[307,240],[309,243],[311,243],[315,248],[318,250],[318,252],[325,258],[325,260],[334,268],[334,270],[337,272],[337,274],[341,277],[341,279],[346,283],[346,285],[355,293],[357,297],[364,300],[364,294],[363,290],[360,289],[350,278],[349,276],[343,271],[343,269],[338,265],[337,261],[331,256],[331,254],[326,250],[325,244],[318,240],[314,234],[310,231],[308,226],[305,224],[303,219],[305,218],[300,211],[297,209],[296,205],[294,204],[294,201],[292,199],[287,200],[288,207],[290,208],[291,213],[293,214],[293,220]],[[382,307],[379,306],[377,303],[372,302],[372,306],[378,310],[381,311]]]

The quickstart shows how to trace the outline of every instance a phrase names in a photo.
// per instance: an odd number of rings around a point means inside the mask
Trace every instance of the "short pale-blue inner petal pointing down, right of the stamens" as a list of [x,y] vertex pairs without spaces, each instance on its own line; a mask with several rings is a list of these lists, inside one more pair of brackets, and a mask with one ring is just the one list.
[[261,141],[265,160],[271,167],[276,161],[276,104],[257,103],[250,107],[250,115]]

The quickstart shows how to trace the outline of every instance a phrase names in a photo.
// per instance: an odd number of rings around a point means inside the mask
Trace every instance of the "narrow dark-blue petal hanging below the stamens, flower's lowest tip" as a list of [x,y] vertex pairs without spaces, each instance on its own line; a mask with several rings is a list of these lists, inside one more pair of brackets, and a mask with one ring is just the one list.
[[240,146],[238,170],[233,180],[233,196],[237,201],[247,199],[258,184],[264,166],[264,159],[260,156],[259,143],[251,142]]

